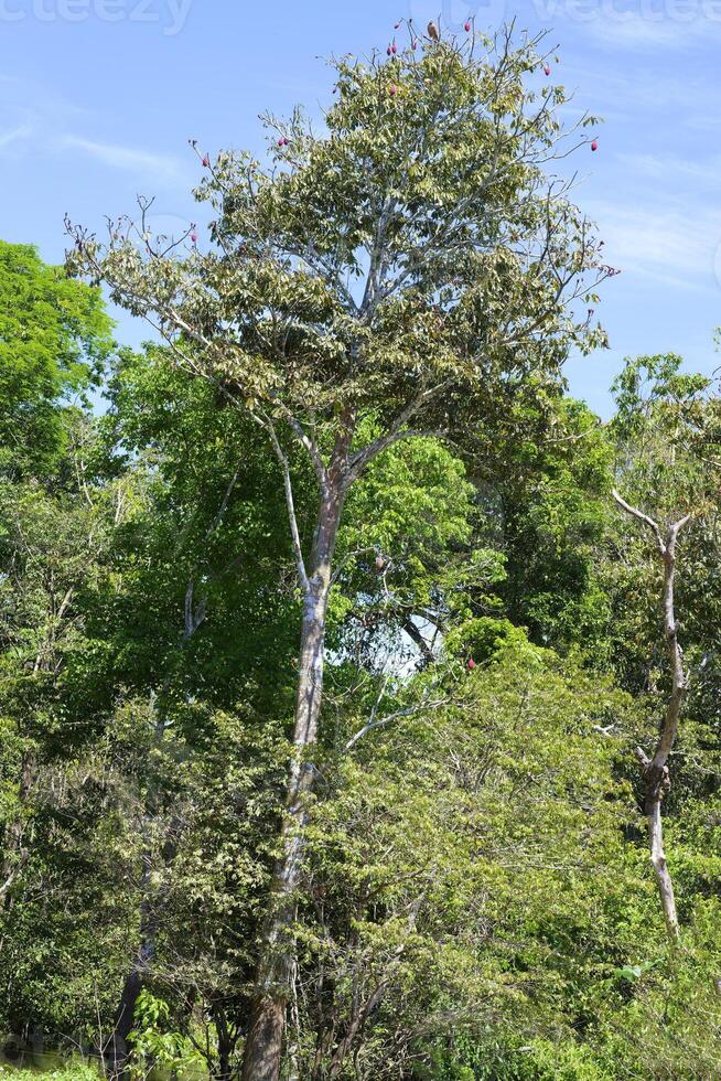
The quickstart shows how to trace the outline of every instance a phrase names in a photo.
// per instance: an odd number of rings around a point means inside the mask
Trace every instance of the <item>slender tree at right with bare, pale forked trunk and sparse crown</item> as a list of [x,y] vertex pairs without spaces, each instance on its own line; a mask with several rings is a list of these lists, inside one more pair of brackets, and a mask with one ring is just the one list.
[[[634,500],[614,490],[615,502],[645,527],[663,568],[668,697],[650,754],[638,747],[636,757],[643,771],[650,861],[671,943],[680,941],[680,924],[664,845],[663,804],[671,786],[671,756],[692,675],[679,636],[677,552],[682,531],[686,535],[696,525],[696,532],[703,533],[703,520],[718,500],[721,468],[719,399],[712,381],[681,373],[680,365],[674,354],[628,360],[613,387],[618,409],[610,426],[617,443],[616,479]],[[689,561],[697,544],[691,535]]]

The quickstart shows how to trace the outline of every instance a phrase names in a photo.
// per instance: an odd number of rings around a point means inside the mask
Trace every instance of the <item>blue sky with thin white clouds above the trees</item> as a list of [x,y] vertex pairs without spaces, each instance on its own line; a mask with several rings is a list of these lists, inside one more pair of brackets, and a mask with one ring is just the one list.
[[[93,227],[157,196],[157,223],[197,217],[195,137],[262,148],[259,113],[329,100],[323,56],[385,45],[441,11],[456,29],[517,18],[547,28],[575,109],[605,118],[577,159],[577,201],[623,274],[600,308],[611,350],[570,362],[572,390],[606,413],[624,355],[721,363],[721,0],[0,0],[0,236],[64,249],[63,214]],[[147,336],[122,318],[119,336]]]

